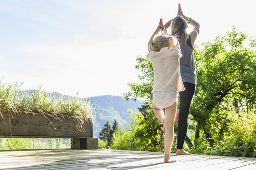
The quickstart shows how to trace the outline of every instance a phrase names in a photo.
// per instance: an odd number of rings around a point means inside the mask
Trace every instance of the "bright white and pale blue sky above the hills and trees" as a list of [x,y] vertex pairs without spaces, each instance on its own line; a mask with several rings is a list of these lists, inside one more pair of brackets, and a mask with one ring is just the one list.
[[174,18],[178,3],[200,23],[197,46],[233,25],[255,36],[250,0],[0,0],[0,79],[23,82],[22,90],[122,95],[137,81],[136,56],[147,54],[159,19]]

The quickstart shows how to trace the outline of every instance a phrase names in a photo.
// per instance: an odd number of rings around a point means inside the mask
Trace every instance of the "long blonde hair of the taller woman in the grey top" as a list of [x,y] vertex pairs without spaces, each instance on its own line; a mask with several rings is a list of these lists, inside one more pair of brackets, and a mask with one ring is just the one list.
[[187,22],[181,16],[177,16],[173,19],[171,24],[171,34],[175,35],[178,38],[181,38],[184,35],[183,42],[185,45],[187,44],[187,40],[189,38],[189,34],[187,34]]

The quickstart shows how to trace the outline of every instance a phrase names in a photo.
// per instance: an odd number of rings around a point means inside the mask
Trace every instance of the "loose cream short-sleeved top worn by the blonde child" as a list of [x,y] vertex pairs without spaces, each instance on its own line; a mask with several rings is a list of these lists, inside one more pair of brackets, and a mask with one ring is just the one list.
[[185,90],[180,72],[180,48],[162,48],[149,51],[148,60],[152,62],[154,83],[152,92]]

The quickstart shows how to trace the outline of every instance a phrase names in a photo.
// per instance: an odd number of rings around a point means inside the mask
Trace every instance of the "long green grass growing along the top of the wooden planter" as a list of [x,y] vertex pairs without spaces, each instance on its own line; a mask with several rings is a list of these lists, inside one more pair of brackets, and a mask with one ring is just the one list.
[[[25,93],[20,90],[20,86],[18,83],[6,84],[0,81],[1,109],[15,113],[61,114],[92,119],[93,107],[87,100],[78,96],[52,97],[51,93],[42,91],[41,87]],[[1,110],[0,115],[2,116]]]

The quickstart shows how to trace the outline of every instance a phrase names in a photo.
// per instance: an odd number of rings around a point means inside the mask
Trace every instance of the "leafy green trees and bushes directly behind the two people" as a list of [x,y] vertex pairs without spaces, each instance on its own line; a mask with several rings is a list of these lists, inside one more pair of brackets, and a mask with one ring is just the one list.
[[[195,47],[197,87],[190,108],[190,135],[186,139],[191,152],[255,157],[255,124],[244,123],[256,122],[252,116],[256,103],[255,41],[233,27],[226,35],[216,37],[214,43],[202,44],[201,49]],[[134,137],[141,138],[147,149],[161,151],[162,129],[151,108],[152,65],[147,56],[138,56],[136,61],[135,68],[142,72],[140,82],[130,83],[131,91],[124,97],[146,98],[147,105],[140,108],[142,115],[137,118]]]

